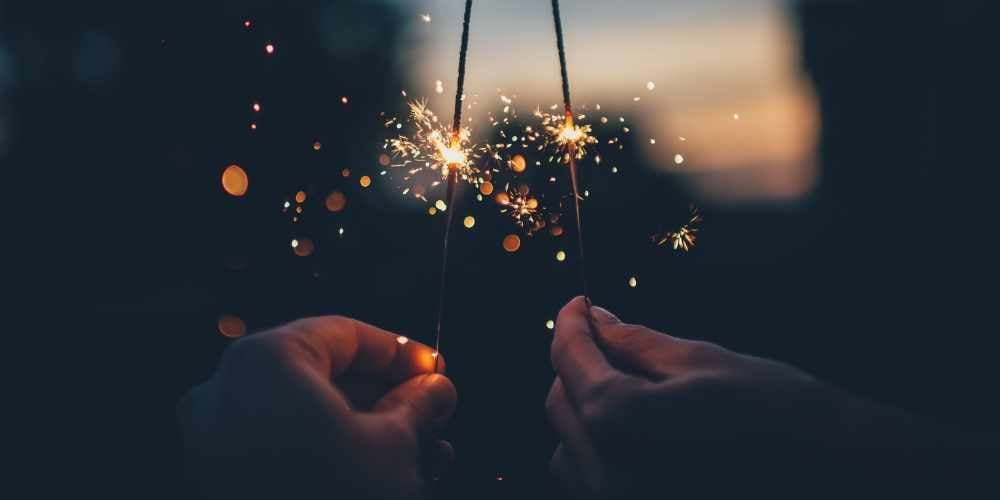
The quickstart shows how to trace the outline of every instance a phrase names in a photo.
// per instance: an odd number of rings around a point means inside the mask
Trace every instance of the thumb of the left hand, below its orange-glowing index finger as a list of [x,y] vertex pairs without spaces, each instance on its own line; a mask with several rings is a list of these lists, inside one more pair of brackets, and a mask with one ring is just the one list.
[[418,375],[389,391],[375,403],[375,411],[399,413],[418,431],[443,425],[455,411],[458,394],[444,375]]

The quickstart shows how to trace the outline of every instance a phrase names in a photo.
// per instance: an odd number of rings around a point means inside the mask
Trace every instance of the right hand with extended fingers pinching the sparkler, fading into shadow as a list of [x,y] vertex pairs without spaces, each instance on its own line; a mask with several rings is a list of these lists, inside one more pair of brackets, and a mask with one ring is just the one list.
[[902,412],[788,365],[622,323],[581,297],[559,313],[552,364],[551,468],[575,497],[703,497],[745,486],[736,473],[788,484],[798,461],[825,460],[821,450],[912,444]]

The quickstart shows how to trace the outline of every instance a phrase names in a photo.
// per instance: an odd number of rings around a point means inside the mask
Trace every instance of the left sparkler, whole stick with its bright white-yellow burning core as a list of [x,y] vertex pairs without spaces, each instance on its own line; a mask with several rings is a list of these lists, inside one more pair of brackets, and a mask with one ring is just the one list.
[[[436,137],[435,149],[437,158],[446,162],[448,189],[445,194],[447,214],[445,215],[444,241],[441,245],[441,286],[438,290],[437,334],[434,337],[434,372],[438,371],[438,353],[441,350],[441,323],[444,317],[444,291],[446,272],[448,270],[448,239],[451,235],[451,224],[455,218],[455,191],[458,190],[459,176],[463,169],[469,168],[468,151],[462,147],[462,99],[465,90],[465,60],[469,52],[469,20],[472,16],[472,0],[465,0],[465,16],[462,20],[462,42],[458,52],[458,84],[455,87],[455,113],[452,117],[451,142],[445,146],[443,137]],[[433,134],[433,132],[432,132]],[[468,134],[465,134],[466,144]],[[443,172],[443,170],[442,170]]]

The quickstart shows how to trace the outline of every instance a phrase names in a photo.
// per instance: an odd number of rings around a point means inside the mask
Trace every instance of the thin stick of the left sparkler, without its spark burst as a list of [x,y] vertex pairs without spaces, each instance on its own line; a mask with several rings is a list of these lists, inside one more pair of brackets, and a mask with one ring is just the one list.
[[[462,98],[465,93],[465,59],[469,52],[469,19],[472,16],[472,0],[465,0],[465,17],[462,21],[462,42],[458,53],[458,84],[455,88],[455,114],[451,126],[451,149],[459,150],[462,130]],[[451,235],[452,220],[455,218],[455,192],[458,190],[458,165],[448,165],[448,187],[445,193],[445,226],[444,242],[441,245],[441,285],[438,289],[438,321],[437,335],[434,339],[434,372],[438,371],[438,359],[441,349],[441,324],[444,318],[444,292],[446,272],[448,271],[448,240]]]

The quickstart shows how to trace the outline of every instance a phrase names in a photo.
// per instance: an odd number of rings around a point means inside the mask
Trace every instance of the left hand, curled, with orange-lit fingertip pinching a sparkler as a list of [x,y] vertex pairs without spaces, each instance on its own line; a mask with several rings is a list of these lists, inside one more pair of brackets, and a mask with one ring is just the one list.
[[192,472],[211,498],[419,498],[453,458],[431,354],[335,316],[240,339],[178,407]]

